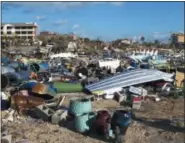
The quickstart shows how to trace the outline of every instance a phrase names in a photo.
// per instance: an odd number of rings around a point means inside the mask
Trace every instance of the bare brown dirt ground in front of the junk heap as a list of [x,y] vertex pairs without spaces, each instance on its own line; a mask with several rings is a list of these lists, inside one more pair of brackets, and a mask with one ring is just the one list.
[[[64,105],[68,106],[69,98],[65,99]],[[114,111],[120,106],[114,100],[94,101],[92,104],[93,110],[106,108]],[[169,121],[172,116],[184,119],[183,98],[142,103],[141,109],[134,111],[134,113],[136,118],[133,119],[125,134],[125,143],[184,143],[183,125],[181,127],[176,124],[172,125]],[[16,119],[14,122],[6,123],[5,127],[8,134],[12,135],[13,142],[23,139],[27,139],[31,143],[107,142],[99,137],[85,136],[70,128],[60,127],[30,117]]]

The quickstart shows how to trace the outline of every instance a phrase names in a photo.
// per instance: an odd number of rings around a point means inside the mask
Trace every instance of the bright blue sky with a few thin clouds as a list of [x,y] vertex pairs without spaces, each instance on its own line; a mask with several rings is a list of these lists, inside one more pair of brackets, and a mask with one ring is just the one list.
[[184,2],[2,2],[2,22],[36,22],[39,31],[105,41],[169,39],[184,33]]

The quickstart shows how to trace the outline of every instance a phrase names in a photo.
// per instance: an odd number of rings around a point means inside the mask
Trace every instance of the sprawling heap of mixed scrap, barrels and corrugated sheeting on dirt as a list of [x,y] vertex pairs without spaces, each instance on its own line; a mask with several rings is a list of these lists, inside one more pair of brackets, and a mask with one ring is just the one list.
[[[53,55],[48,60],[3,55],[1,110],[8,112],[3,123],[13,122],[15,114],[57,125],[65,125],[72,120],[74,129],[79,133],[94,132],[121,142],[131,123],[133,109],[139,110],[142,102],[158,102],[161,97],[171,95],[184,96],[184,74],[150,68],[148,65],[154,64],[157,58],[147,60],[148,63],[141,63],[143,57],[149,57],[146,55],[142,55],[140,62],[134,62],[134,58],[136,61],[139,57],[136,55],[121,60],[106,58],[87,62],[77,55],[68,55]],[[66,96],[58,94],[76,92],[93,96],[72,98],[69,107],[62,106]],[[108,110],[93,111],[91,102],[100,99],[116,100],[122,107],[130,108],[113,113]],[[3,138],[11,140],[8,135],[3,135]]]

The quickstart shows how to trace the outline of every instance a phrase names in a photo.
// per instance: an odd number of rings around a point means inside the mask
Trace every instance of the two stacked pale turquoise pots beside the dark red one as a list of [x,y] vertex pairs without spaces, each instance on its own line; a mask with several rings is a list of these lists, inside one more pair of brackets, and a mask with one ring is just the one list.
[[91,100],[87,98],[70,100],[69,113],[75,117],[74,127],[79,133],[88,132],[96,119],[96,113],[92,112]]

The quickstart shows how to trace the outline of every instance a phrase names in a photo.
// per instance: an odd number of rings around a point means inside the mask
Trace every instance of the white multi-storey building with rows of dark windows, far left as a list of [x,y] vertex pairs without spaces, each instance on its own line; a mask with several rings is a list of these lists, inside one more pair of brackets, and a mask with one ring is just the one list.
[[36,23],[3,23],[1,24],[1,36],[16,36],[35,41],[37,27]]

